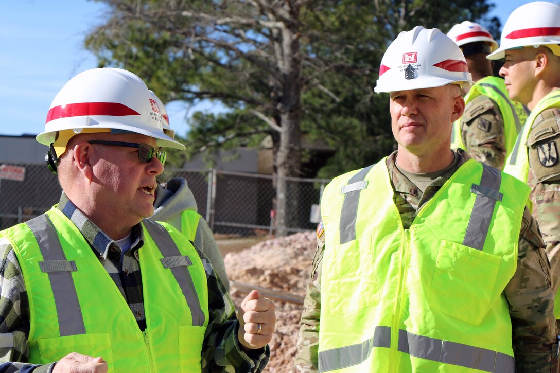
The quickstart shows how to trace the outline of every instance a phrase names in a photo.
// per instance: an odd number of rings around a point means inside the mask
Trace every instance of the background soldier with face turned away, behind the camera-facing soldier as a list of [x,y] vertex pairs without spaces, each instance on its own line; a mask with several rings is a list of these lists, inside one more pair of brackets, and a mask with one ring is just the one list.
[[528,109],[510,100],[503,79],[492,75],[492,62],[486,56],[498,43],[485,27],[464,21],[451,27],[447,36],[465,55],[475,82],[463,87],[465,113],[453,125],[451,148],[460,147],[475,161],[502,170]]

